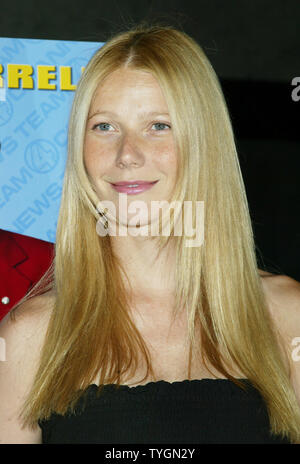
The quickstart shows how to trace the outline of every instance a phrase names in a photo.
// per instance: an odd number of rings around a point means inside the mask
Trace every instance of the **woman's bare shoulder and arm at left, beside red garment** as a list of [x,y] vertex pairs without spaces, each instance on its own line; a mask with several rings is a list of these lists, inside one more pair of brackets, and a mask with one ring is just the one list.
[[54,301],[52,292],[33,297],[0,323],[0,443],[41,443],[40,428],[24,428],[19,413],[39,366]]

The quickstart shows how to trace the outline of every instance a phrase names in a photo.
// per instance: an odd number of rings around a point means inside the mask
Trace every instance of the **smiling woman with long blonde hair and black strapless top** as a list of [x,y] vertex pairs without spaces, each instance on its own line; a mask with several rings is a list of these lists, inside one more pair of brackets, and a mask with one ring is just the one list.
[[[137,181],[124,206],[118,184]],[[157,200],[203,201],[204,243],[186,246],[178,216],[143,235],[167,217],[147,216]],[[203,51],[171,27],[113,37],[75,95],[52,289],[1,327],[2,442],[298,442],[299,286],[254,250]]]

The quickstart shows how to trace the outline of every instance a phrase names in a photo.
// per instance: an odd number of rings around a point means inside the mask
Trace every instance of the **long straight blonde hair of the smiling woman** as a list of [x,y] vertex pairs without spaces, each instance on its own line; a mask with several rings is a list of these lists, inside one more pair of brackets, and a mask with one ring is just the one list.
[[[112,37],[88,63],[78,84],[59,213],[52,308],[40,365],[22,409],[34,427],[52,412],[65,414],[100,373],[120,384],[139,355],[154,376],[148,349],[129,316],[125,269],[109,236],[99,237],[97,198],[83,159],[87,115],[100,82],[120,67],[152,73],[166,98],[178,152],[174,200],[204,201],[204,245],[184,236],[176,245],[176,305],[187,308],[189,338],[226,378],[230,363],[262,394],[271,431],[299,440],[300,413],[267,309],[234,136],[218,78],[200,46],[171,26],[138,25]],[[195,211],[194,211],[195,214]],[[92,349],[91,349],[92,347]],[[190,368],[190,366],[189,366]]]

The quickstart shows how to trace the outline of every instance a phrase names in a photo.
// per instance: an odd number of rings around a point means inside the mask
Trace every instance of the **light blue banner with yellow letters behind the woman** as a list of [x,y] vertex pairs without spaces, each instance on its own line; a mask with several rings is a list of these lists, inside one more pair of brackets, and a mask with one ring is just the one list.
[[0,38],[0,228],[55,241],[76,84],[103,43]]

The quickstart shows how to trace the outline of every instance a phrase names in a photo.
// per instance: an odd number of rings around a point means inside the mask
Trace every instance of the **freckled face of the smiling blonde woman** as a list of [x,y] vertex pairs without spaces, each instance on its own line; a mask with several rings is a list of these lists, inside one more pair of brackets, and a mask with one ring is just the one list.
[[[177,174],[174,145],[168,107],[152,74],[122,68],[99,85],[89,110],[84,161],[99,200],[114,203],[124,226],[140,212],[128,212],[133,201],[147,206],[149,215],[139,214],[142,226],[158,217],[151,215],[152,201],[171,199]],[[127,181],[157,182],[147,190],[129,190],[125,212],[122,206],[119,211],[120,190],[112,184]]]

